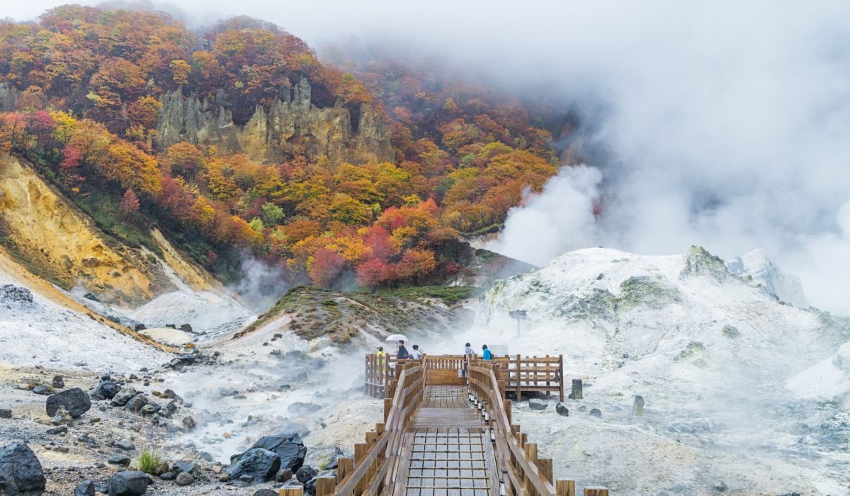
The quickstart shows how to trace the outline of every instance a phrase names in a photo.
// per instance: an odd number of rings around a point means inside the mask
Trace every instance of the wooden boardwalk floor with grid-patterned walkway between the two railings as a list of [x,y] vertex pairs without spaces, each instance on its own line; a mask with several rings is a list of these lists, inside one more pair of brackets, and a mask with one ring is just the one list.
[[496,496],[496,458],[464,386],[425,388],[405,434],[395,496]]

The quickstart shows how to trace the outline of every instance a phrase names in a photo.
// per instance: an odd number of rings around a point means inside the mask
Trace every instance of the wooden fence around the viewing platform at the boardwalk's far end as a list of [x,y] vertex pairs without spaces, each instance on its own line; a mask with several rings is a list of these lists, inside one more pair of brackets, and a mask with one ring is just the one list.
[[[477,356],[471,357],[473,363],[487,363]],[[499,382],[502,396],[512,393],[517,401],[523,393],[557,393],[564,401],[564,356],[498,356],[491,362],[499,366]],[[390,380],[399,379],[405,363],[421,363],[428,370],[428,379],[432,385],[465,385],[466,356],[463,355],[425,355],[420,360],[398,360],[394,356],[379,357],[374,354],[365,356],[365,394],[383,398]]]

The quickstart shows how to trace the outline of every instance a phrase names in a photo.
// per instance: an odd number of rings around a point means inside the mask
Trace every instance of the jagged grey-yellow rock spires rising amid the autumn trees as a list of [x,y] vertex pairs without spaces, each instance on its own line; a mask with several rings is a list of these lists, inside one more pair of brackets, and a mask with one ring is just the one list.
[[178,141],[216,145],[224,153],[243,153],[260,162],[280,162],[300,153],[325,156],[333,163],[393,162],[394,151],[371,105],[360,106],[353,126],[341,103],[319,108],[310,103],[310,85],[302,78],[292,94],[283,91],[268,111],[258,105],[244,125],[233,122],[224,91],[214,101],[184,97],[181,90],[163,94],[157,123],[160,146]]

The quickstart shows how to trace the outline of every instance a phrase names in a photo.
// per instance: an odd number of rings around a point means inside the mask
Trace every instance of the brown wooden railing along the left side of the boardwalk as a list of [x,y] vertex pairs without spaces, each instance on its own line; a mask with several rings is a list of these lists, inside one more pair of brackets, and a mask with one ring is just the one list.
[[388,380],[388,397],[383,402],[384,423],[366,433],[365,443],[354,445],[354,459],[339,459],[337,485],[328,488],[339,496],[392,493],[395,463],[407,423],[422,402],[425,370],[421,363],[399,363],[399,379]]

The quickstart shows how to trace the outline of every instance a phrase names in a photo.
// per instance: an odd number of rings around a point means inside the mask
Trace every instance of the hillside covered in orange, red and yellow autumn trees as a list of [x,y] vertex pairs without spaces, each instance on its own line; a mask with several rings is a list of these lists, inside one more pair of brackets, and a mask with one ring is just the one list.
[[498,229],[557,173],[551,135],[454,76],[352,71],[260,20],[196,33],[66,5],[0,24],[0,151],[111,236],[156,252],[157,229],[222,279],[245,254],[287,284],[456,277],[473,259],[458,235]]

